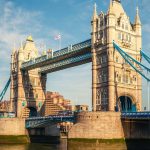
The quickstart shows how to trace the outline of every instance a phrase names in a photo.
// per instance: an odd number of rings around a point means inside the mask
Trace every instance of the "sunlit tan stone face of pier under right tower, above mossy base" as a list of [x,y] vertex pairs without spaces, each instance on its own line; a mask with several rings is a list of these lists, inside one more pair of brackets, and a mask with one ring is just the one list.
[[81,112],[68,138],[120,139],[124,138],[119,112]]

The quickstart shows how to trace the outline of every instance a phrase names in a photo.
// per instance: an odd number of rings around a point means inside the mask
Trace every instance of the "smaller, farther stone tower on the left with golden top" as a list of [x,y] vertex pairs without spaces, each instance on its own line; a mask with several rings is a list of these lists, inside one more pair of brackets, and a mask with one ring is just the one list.
[[40,75],[39,69],[21,71],[24,61],[35,59],[38,50],[31,36],[11,55],[11,111],[17,117],[41,116],[44,111],[46,93],[46,75]]

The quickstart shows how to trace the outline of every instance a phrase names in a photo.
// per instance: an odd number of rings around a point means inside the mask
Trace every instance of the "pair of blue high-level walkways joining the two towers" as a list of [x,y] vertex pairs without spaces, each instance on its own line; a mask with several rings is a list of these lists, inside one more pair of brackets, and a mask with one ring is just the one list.
[[50,73],[92,61],[91,39],[22,63],[22,70],[40,68],[40,73]]

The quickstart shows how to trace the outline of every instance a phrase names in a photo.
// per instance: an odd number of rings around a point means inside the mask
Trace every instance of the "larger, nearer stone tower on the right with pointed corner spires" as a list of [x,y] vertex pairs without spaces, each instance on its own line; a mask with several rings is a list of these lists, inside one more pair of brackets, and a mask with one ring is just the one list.
[[138,8],[132,24],[120,0],[110,2],[106,14],[92,18],[93,111],[141,110],[141,77],[114,49],[113,40],[130,56],[141,61],[141,21]]

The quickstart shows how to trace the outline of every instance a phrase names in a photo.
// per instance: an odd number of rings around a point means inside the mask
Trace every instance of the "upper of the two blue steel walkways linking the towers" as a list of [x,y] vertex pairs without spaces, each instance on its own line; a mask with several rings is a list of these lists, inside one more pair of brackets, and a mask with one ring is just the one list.
[[53,63],[60,62],[62,60],[77,57],[80,55],[85,55],[87,53],[91,53],[91,39],[86,40],[84,42],[75,44],[73,46],[55,51],[53,53],[53,57],[49,57],[48,55],[44,55],[33,60],[24,62],[22,64],[22,70],[31,70],[35,68],[41,68],[46,65],[50,65]]

